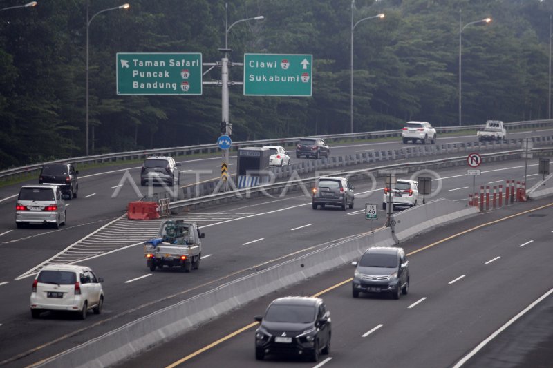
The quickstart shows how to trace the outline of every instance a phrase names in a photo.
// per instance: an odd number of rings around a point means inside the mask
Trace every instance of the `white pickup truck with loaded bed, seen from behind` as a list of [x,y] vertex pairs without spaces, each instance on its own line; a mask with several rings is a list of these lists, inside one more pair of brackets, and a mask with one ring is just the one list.
[[198,226],[183,220],[162,222],[158,237],[144,243],[144,257],[150,271],[156,267],[180,267],[185,272],[200,268],[205,234]]

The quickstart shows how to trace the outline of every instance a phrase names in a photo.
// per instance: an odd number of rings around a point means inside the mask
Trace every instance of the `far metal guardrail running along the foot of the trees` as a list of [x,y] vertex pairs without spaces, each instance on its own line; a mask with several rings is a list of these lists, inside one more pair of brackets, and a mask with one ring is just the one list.
[[[538,128],[543,126],[548,126],[553,124],[552,120],[531,120],[526,122],[510,122],[505,123],[505,126],[511,129],[521,129],[521,128]],[[442,126],[435,127],[438,133],[451,133],[459,130],[476,130],[482,128],[484,124],[478,125],[465,125],[465,126]],[[364,133],[345,133],[345,134],[335,134],[335,135],[317,135],[323,139],[328,140],[328,142],[336,142],[343,139],[377,139],[383,137],[399,137],[402,130],[380,130],[376,132],[364,132]],[[240,147],[245,146],[263,146],[270,144],[279,144],[287,146],[290,144],[295,144],[301,137],[292,137],[292,138],[280,138],[280,139],[262,139],[255,141],[242,141],[242,142],[233,142],[231,151],[237,151]],[[139,151],[127,151],[120,153],[105,153],[103,155],[93,155],[93,156],[83,156],[83,157],[71,157],[67,159],[57,159],[55,161],[42,162],[40,164],[32,164],[28,166],[21,166],[18,168],[10,168],[8,170],[0,171],[0,180],[6,180],[8,177],[17,177],[18,175],[25,175],[27,173],[32,173],[39,171],[42,165],[44,164],[55,164],[55,163],[66,163],[71,162],[72,164],[89,164],[89,163],[101,163],[101,162],[117,162],[117,161],[126,161],[131,159],[141,159],[150,155],[171,155],[171,156],[181,156],[181,155],[193,155],[197,153],[215,153],[218,151],[217,144],[198,144],[196,146],[183,146],[183,147],[171,147],[171,148],[156,148],[150,150],[139,150]]]

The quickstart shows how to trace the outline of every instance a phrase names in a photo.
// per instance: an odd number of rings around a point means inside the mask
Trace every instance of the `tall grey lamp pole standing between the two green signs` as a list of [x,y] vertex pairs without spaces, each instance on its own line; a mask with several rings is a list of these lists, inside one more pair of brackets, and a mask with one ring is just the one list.
[[[243,21],[258,21],[261,19],[264,19],[263,15],[259,15],[257,17],[252,18],[245,18],[240,19],[238,21],[235,21],[229,26],[229,4],[225,3],[226,8],[226,19],[225,19],[225,48],[219,49],[223,52],[225,52],[225,55],[223,59],[221,59],[221,117],[222,117],[222,124],[221,126],[225,126],[225,135],[231,135],[232,129],[231,125],[229,124],[229,52],[232,51],[229,49],[229,32],[232,27],[234,27],[236,24],[241,23]],[[223,164],[221,164],[221,173],[223,172],[223,166],[225,166],[225,169],[228,168],[229,164],[229,150],[224,149],[223,150]],[[226,180],[226,177],[224,178]],[[227,185],[225,183],[225,190],[227,189]]]

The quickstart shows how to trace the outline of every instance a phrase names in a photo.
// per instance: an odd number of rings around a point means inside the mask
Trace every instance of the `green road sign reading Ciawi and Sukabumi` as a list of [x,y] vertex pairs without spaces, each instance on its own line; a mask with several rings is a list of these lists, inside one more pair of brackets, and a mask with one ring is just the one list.
[[244,54],[245,96],[310,96],[313,55]]

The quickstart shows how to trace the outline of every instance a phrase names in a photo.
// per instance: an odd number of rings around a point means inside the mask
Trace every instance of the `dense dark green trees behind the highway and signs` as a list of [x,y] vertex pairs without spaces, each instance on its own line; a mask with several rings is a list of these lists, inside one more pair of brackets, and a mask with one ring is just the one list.
[[[221,60],[225,1],[91,0],[91,153],[216,141],[221,88],[201,96],[118,96],[117,52],[201,52]],[[1,0],[0,8],[26,3]],[[86,0],[38,0],[0,12],[0,168],[84,155]],[[231,60],[244,52],[312,54],[312,97],[243,96],[230,88],[233,139],[350,131],[350,0],[234,0]],[[357,0],[354,22],[355,131],[406,119],[458,124],[460,24],[462,121],[547,118],[552,1]],[[207,70],[207,67],[204,67]],[[234,66],[230,79],[242,80]],[[214,68],[204,81],[221,79]]]

